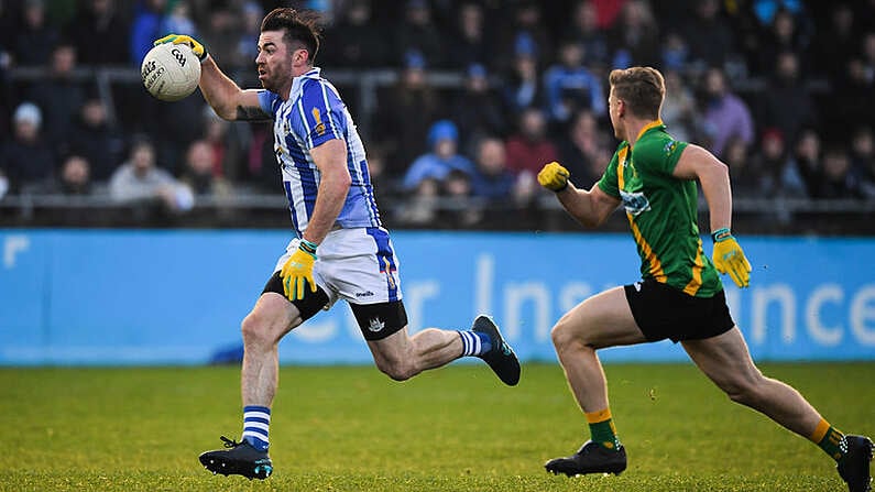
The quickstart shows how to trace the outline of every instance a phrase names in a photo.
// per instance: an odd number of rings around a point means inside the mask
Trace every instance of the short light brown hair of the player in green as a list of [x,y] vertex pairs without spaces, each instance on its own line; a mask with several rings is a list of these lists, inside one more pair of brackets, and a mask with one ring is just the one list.
[[631,67],[611,70],[608,80],[614,88],[614,97],[628,106],[638,118],[659,118],[659,107],[666,96],[663,74],[653,67]]

